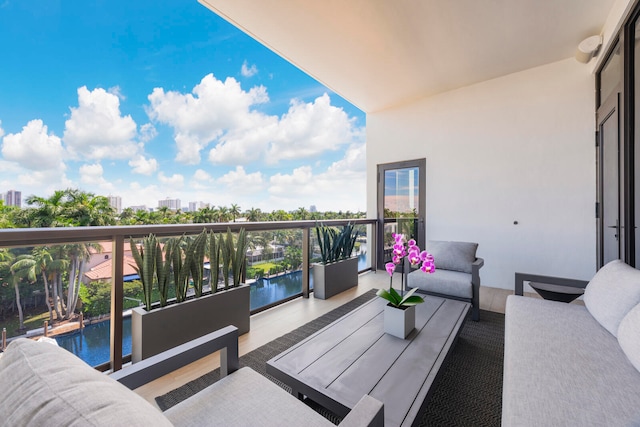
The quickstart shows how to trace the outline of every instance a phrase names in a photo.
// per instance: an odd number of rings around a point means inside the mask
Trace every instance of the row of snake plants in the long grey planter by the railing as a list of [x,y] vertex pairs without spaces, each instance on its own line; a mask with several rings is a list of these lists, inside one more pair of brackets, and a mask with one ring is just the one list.
[[[239,254],[245,253],[246,245],[244,229],[237,239],[231,230],[218,236],[203,230],[193,237],[169,238],[164,245],[151,235],[142,239],[140,250],[131,241],[145,301],[145,307],[133,309],[131,315],[134,363],[227,325],[236,326],[239,334],[249,331],[249,286],[240,284],[245,259]],[[225,253],[234,255],[233,262]],[[211,270],[207,292],[203,289],[206,255]],[[221,260],[226,277],[222,287],[218,286]],[[161,284],[166,283],[167,289],[169,282],[176,298],[163,301],[162,295],[167,291],[162,290]],[[161,295],[157,307],[151,303],[151,292],[156,287]]]

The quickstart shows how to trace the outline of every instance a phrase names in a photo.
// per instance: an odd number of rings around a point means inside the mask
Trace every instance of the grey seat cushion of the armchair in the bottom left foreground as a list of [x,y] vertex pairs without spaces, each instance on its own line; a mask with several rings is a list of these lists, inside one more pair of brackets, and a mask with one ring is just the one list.
[[[206,409],[203,409],[206,408]],[[242,368],[167,409],[176,426],[331,426],[307,405],[251,368]]]

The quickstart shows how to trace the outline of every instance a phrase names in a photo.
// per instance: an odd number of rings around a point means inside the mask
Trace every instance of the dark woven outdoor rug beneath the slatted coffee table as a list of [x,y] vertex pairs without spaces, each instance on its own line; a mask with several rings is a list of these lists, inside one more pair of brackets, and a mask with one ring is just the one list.
[[[249,366],[288,392],[291,389],[265,372],[267,360],[319,331],[375,296],[371,290],[286,335],[240,357]],[[480,312],[480,322],[470,318],[438,379],[421,426],[499,426],[502,414],[502,359],[504,315]],[[220,378],[219,369],[156,398],[163,411],[194,395]],[[309,399],[310,407],[338,424],[340,417]]]

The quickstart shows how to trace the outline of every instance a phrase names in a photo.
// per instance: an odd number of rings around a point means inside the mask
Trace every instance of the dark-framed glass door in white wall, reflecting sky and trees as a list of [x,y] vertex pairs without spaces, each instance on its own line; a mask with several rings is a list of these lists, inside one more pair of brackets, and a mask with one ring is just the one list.
[[393,233],[415,239],[424,248],[425,159],[378,165],[377,267],[391,261]]

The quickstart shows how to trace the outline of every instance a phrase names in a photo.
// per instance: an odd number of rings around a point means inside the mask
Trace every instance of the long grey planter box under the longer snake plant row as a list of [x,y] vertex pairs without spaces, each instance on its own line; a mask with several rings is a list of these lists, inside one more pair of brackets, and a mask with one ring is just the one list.
[[178,304],[131,313],[131,360],[139,362],[187,341],[233,325],[249,332],[249,285]]

